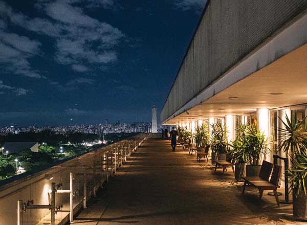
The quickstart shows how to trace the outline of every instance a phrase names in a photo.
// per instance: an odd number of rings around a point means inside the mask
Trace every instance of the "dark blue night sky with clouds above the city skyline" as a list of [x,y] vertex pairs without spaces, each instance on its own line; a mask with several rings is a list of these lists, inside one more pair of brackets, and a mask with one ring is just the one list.
[[0,0],[0,126],[151,121],[206,0]]

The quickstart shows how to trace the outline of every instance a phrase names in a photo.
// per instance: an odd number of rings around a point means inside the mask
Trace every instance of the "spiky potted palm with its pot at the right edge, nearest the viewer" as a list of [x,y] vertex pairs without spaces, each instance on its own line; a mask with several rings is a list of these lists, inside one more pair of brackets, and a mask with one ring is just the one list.
[[290,190],[293,190],[293,216],[305,220],[307,219],[306,117],[300,121],[297,113],[294,113],[291,119],[286,115],[286,121],[281,119],[280,121],[283,128],[279,129],[281,137],[278,150],[286,152],[291,161],[291,168],[285,172],[290,178]]

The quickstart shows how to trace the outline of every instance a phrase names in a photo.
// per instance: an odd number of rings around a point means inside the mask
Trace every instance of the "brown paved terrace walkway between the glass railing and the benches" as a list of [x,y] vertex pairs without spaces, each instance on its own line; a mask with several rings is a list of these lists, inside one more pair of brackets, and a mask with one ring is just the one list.
[[252,188],[241,195],[231,169],[214,173],[210,163],[180,149],[146,140],[75,223],[306,224],[292,221],[292,205],[278,208],[267,192],[258,200]]

